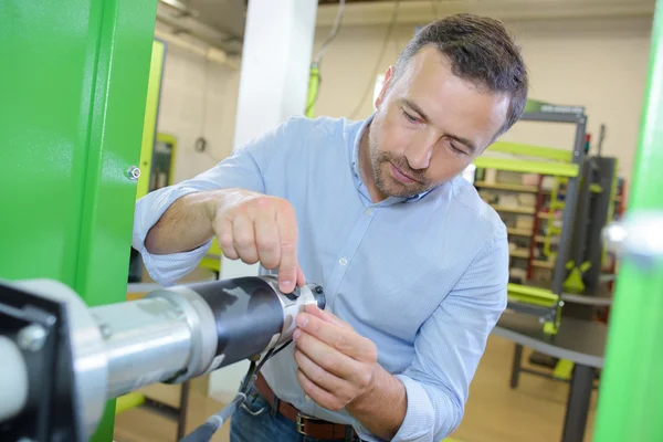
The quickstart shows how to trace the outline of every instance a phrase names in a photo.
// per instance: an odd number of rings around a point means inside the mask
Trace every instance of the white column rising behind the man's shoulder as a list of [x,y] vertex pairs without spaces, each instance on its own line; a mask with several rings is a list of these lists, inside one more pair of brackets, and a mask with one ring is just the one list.
[[[251,0],[242,50],[234,149],[292,115],[303,115],[308,88],[316,0]],[[256,265],[225,257],[220,278],[257,274]],[[230,402],[248,362],[214,371],[210,394]]]

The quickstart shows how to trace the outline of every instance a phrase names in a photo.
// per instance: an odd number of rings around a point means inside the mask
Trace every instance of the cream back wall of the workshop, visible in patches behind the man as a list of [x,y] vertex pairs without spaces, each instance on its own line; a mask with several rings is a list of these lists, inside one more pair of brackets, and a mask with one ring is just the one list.
[[[598,138],[600,124],[606,124],[604,155],[620,159],[620,171],[629,180],[640,128],[650,25],[648,19],[629,18],[507,23],[523,48],[530,96],[586,106],[592,140]],[[376,75],[396,61],[413,27],[397,24],[387,41],[386,31],[387,27],[341,28],[323,60],[316,115],[362,118],[371,112]],[[329,28],[316,30],[314,53],[328,33]],[[240,72],[208,62],[207,86],[204,72],[202,56],[169,45],[159,130],[179,139],[176,181],[206,170],[232,150]],[[208,155],[193,151],[200,134],[208,138]],[[572,130],[520,123],[503,139],[567,149]]]

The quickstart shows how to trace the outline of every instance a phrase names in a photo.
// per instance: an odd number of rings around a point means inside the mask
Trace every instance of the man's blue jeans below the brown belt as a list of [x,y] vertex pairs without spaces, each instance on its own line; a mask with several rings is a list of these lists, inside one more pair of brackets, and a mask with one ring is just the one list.
[[323,440],[297,432],[295,422],[281,413],[272,415],[270,403],[255,389],[250,391],[243,406],[230,418],[230,442],[340,442]]

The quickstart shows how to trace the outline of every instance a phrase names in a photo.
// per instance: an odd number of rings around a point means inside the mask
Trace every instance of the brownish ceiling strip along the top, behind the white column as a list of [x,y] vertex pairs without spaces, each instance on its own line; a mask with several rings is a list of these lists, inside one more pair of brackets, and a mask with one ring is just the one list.
[[[173,34],[189,34],[241,54],[250,0],[159,0],[158,19]],[[280,0],[274,0],[280,1]],[[339,0],[318,0],[317,25],[332,27]],[[651,17],[654,0],[346,0],[343,25],[386,25],[398,3],[399,24],[474,12],[503,20]]]

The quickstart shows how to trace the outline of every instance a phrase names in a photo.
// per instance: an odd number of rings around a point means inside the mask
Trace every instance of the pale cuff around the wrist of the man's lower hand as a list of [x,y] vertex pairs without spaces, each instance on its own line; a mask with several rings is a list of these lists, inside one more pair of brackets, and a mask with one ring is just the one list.
[[[403,386],[408,397],[408,410],[403,422],[391,439],[392,442],[439,442],[434,441],[433,404],[421,383],[404,375],[396,375]],[[381,442],[383,439],[370,433],[361,423],[355,420],[355,431],[359,438],[368,442]]]

